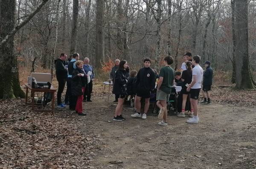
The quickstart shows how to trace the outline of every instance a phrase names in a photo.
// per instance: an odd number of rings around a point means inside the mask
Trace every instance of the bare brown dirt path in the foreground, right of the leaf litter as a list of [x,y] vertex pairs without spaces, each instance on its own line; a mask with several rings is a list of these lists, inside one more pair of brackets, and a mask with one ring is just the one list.
[[128,107],[123,112],[126,121],[113,121],[113,99],[93,100],[84,103],[89,115],[84,117],[82,128],[102,135],[102,150],[92,160],[95,168],[256,168],[255,109],[200,105],[200,124],[186,124],[187,118],[168,116],[169,126],[162,127],[155,116],[131,118]]

